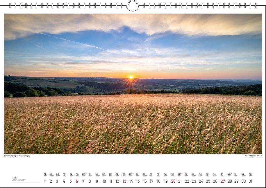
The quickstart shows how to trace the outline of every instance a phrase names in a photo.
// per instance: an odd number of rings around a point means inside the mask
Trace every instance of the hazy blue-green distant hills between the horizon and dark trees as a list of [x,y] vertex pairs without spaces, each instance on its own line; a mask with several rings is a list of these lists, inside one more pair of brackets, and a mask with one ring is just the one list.
[[24,84],[28,87],[56,87],[76,92],[123,92],[126,88],[151,91],[181,91],[185,88],[248,86],[261,84],[261,80],[209,80],[209,79],[133,79],[133,86],[125,78],[108,77],[21,77],[4,76],[5,82]]

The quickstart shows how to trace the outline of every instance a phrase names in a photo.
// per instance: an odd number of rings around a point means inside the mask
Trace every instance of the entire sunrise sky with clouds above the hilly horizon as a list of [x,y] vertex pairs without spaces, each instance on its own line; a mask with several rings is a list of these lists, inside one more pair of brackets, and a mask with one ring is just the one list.
[[4,74],[262,79],[261,14],[5,14]]

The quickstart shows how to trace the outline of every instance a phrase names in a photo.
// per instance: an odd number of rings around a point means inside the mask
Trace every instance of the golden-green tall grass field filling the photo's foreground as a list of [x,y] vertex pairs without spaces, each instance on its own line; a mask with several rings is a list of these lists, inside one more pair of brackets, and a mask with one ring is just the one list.
[[5,98],[5,153],[262,153],[262,98]]

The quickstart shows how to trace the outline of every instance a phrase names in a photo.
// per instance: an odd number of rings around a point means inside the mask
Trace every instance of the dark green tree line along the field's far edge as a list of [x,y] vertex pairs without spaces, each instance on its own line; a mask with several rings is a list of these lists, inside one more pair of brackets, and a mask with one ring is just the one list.
[[[157,93],[195,93],[195,94],[219,94],[219,95],[262,95],[262,84],[249,85],[249,86],[227,86],[227,87],[208,87],[201,89],[182,89],[179,91],[172,90],[135,90],[133,88],[127,88],[126,94],[157,94]],[[4,96],[10,97],[43,97],[43,96],[66,96],[72,95],[69,91],[63,91],[60,88],[55,87],[28,87],[24,84],[15,84],[10,82],[4,82]],[[78,95],[120,95],[120,92],[109,93],[81,93]]]

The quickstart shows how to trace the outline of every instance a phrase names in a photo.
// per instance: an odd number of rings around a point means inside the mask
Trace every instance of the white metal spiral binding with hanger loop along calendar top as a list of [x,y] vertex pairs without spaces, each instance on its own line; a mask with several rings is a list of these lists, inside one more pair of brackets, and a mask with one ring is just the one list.
[[[188,8],[189,6],[191,8],[193,8],[193,6],[195,6],[196,8],[199,8],[199,7],[201,7],[201,8],[205,8],[205,7],[209,8],[209,3],[207,3],[207,4],[203,4],[203,3],[201,3],[201,4],[199,4],[199,3],[194,3],[194,4],[193,3],[191,3],[191,4],[190,3],[185,3],[185,4],[184,3],[164,3],[164,4],[161,4],[161,3],[157,3],[157,4],[156,3],[152,3],[152,4],[151,3],[142,3],[142,4],[139,4],[135,0],[131,0],[131,1],[135,2],[135,6],[143,7],[143,8],[145,8],[145,7],[151,8],[152,6],[153,6],[153,8],[156,8],[156,7],[161,8],[161,6],[163,6],[164,8],[166,8],[166,7],[172,8],[172,6],[174,8],[177,8],[177,7],[182,8],[182,6],[185,6],[186,8]],[[107,8],[107,7],[112,8],[112,6],[115,6],[115,8],[118,8],[120,6],[121,8],[123,8],[123,7],[128,8],[128,6],[130,5],[131,1],[129,1],[128,3],[67,3],[66,5],[64,3],[62,3],[62,5],[57,3],[56,7],[57,8],[59,8],[59,7],[64,8],[65,6],[67,6],[67,8],[69,8],[69,7],[81,8],[83,6],[83,8],[86,8],[86,7],[91,8],[91,6],[93,6],[94,8],[96,8],[96,7],[101,8],[102,6],[104,6],[105,8]],[[34,6],[35,6],[35,8],[38,8],[38,7],[43,8],[43,3],[41,3],[41,4],[37,4],[36,3],[36,5],[33,5],[32,3],[30,5],[27,5],[27,3],[25,3],[25,5],[22,5],[22,3],[19,4],[19,8],[22,8],[22,7],[27,8],[28,6],[30,6],[31,8],[33,8]],[[46,8],[48,8],[48,7],[53,8],[53,3],[50,4],[50,5],[48,3],[46,3],[46,5],[44,5],[44,6],[46,6]],[[225,3],[223,3],[223,8],[225,8],[225,7],[228,7],[228,8],[230,8],[230,7],[233,7],[233,8],[244,7],[244,8],[246,8],[246,6],[248,6],[248,5],[246,5],[246,3],[244,3],[244,5],[241,5],[240,3],[239,3],[239,5],[236,5],[235,3],[233,5],[232,4],[230,5],[230,3],[228,3],[228,5],[226,5]],[[9,3],[9,8],[13,8],[13,7],[17,8],[16,3],[14,5]],[[217,3],[215,5],[214,3],[212,3],[212,8],[215,8],[215,7],[220,8],[220,4]],[[251,3],[249,3],[249,8],[251,8],[251,7],[257,8],[257,3],[255,3],[254,5],[251,5]],[[135,10],[130,10],[130,11],[135,11]]]

